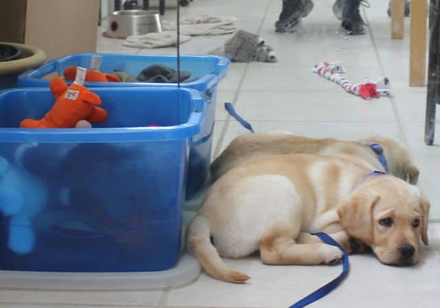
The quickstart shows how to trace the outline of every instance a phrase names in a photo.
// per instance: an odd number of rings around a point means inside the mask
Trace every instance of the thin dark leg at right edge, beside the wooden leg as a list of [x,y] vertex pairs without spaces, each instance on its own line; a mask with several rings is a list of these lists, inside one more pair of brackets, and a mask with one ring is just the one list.
[[432,145],[435,132],[435,108],[440,103],[440,0],[431,0],[429,10],[429,65],[426,94],[425,143]]

